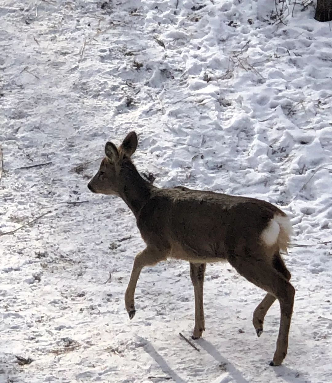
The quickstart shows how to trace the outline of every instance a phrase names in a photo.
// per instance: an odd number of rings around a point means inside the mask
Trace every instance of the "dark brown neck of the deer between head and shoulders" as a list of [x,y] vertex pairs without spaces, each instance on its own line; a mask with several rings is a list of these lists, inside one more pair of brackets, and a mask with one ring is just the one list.
[[119,195],[137,217],[149,200],[152,188],[155,187],[141,177],[135,165],[129,160],[122,164],[119,178],[121,180]]

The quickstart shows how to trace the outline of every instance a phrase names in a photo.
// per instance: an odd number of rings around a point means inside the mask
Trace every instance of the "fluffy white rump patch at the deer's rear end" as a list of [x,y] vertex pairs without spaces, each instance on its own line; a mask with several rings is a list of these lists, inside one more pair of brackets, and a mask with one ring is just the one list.
[[289,218],[275,215],[268,223],[267,228],[262,231],[260,238],[267,246],[273,246],[278,242],[279,234],[283,236],[282,241],[287,243],[291,232],[292,226]]

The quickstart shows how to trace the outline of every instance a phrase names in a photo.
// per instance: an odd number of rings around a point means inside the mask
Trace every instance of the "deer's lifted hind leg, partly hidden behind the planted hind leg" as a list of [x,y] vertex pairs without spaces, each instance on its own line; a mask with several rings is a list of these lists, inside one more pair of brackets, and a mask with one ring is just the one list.
[[[273,255],[272,266],[280,272],[288,281],[291,279],[291,273],[288,271],[283,259],[281,258],[279,251]],[[253,312],[252,324],[255,327],[257,336],[260,337],[263,332],[263,322],[268,309],[272,306],[276,300],[274,295],[267,293],[263,298],[262,302],[258,304],[255,311]]]

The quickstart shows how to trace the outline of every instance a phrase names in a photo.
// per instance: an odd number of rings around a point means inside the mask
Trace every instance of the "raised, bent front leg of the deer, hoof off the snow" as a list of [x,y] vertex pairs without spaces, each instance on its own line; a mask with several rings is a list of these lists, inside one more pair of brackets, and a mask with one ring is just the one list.
[[167,257],[165,256],[165,254],[160,253],[156,249],[151,249],[150,247],[147,247],[146,249],[144,249],[136,255],[126,294],[124,295],[124,302],[129,315],[129,319],[134,318],[136,313],[134,295],[137,280],[139,278],[142,268],[144,266],[154,266],[155,264],[162,260],[165,260],[166,258]]

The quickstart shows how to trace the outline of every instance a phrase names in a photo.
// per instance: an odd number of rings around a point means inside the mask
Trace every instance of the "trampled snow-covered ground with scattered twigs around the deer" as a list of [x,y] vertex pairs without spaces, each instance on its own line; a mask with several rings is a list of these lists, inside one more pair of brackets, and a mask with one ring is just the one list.
[[[46,215],[0,236],[1,383],[332,381],[332,32],[311,5],[282,5],[285,24],[265,0],[2,0],[0,231]],[[131,130],[155,185],[291,216],[282,366],[268,366],[278,304],[258,339],[264,292],[228,264],[207,267],[200,352],[178,335],[194,325],[186,262],[143,270],[129,321],[144,243],[123,201],[87,182]]]

